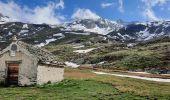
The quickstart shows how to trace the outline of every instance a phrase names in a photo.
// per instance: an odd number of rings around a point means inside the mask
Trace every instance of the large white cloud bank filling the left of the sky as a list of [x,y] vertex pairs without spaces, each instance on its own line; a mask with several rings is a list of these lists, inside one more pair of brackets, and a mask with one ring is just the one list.
[[20,6],[14,1],[0,1],[0,13],[19,22],[29,22],[35,24],[60,24],[64,20],[64,16],[56,14],[56,10],[64,9],[64,1],[48,2],[46,6],[36,6],[29,8]]

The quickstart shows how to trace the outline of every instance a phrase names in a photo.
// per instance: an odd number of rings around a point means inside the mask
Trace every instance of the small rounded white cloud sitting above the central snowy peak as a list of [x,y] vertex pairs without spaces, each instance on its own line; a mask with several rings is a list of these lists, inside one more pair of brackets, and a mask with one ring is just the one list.
[[72,19],[99,19],[100,17],[92,12],[90,9],[77,9],[73,15],[71,16]]

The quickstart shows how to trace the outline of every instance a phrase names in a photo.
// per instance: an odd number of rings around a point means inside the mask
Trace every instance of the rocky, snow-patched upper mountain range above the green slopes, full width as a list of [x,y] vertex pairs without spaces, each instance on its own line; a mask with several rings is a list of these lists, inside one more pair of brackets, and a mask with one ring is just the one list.
[[[49,43],[89,42],[94,37],[101,40],[136,43],[169,37],[170,21],[133,22],[107,19],[82,19],[63,25],[14,22],[0,14],[1,48],[13,35],[27,43],[44,46]],[[95,40],[94,40],[95,41]]]

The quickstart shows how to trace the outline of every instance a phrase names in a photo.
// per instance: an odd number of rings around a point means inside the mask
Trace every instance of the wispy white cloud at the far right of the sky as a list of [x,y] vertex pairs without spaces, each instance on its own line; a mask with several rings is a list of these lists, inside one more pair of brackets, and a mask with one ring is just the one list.
[[156,16],[153,8],[155,6],[163,6],[166,4],[168,0],[141,0],[145,6],[144,6],[144,11],[143,16],[149,20],[161,20],[158,16]]

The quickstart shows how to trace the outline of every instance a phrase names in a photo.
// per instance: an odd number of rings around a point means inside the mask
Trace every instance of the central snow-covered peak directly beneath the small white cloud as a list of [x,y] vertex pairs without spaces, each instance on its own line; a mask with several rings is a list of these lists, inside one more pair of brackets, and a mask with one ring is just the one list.
[[122,28],[123,24],[103,18],[77,19],[71,23],[66,23],[65,27],[71,30],[84,30],[86,32],[107,35],[111,31],[117,31]]

